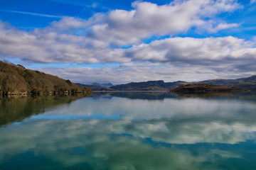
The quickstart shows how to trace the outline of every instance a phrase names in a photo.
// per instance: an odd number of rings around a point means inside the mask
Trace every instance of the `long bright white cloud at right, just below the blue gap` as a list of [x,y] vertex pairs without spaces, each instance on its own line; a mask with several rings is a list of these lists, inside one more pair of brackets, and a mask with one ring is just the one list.
[[[255,61],[255,43],[232,36],[224,38],[166,38],[149,44],[137,45],[126,52],[135,61],[183,62],[211,65],[216,62]],[[206,63],[207,62],[207,63]]]

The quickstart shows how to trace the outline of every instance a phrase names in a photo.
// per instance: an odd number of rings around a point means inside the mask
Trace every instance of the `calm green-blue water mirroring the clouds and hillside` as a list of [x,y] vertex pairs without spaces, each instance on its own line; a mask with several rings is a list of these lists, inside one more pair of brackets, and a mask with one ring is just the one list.
[[0,169],[256,169],[256,94],[0,98]]

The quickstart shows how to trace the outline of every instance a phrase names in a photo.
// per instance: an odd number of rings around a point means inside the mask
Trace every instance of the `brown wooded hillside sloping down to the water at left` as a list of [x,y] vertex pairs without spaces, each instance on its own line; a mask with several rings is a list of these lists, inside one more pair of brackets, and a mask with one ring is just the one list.
[[0,61],[0,94],[73,94],[92,93],[90,88],[73,84],[70,80],[61,79],[43,72],[26,69],[21,65]]

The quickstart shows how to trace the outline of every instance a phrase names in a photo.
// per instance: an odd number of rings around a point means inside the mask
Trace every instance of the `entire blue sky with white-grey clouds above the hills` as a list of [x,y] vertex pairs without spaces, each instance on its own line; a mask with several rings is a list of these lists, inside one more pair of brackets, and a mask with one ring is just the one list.
[[0,0],[0,60],[75,83],[256,74],[256,0]]

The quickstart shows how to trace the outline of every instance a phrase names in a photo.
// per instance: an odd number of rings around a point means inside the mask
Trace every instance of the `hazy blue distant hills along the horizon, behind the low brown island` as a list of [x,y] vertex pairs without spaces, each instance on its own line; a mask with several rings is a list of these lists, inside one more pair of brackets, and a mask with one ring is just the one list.
[[[164,82],[158,81],[144,81],[144,82],[131,82],[129,84],[119,84],[116,86],[94,86],[89,85],[93,91],[169,91],[175,89],[178,86],[186,84],[214,84],[235,87],[237,89],[250,89],[256,91],[256,75],[241,79],[210,79],[205,81],[174,81]],[[85,84],[79,84],[81,86],[87,86]]]

